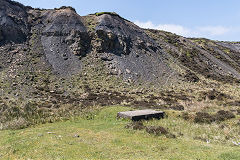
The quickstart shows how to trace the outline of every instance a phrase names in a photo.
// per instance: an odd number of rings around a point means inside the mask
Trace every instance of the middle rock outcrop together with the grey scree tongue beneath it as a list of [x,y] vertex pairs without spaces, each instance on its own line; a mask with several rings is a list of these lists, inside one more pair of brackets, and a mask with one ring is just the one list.
[[77,73],[81,69],[78,56],[84,56],[90,46],[81,17],[71,8],[31,11],[30,14],[37,19],[32,32],[41,36],[46,60],[53,71],[61,75]]

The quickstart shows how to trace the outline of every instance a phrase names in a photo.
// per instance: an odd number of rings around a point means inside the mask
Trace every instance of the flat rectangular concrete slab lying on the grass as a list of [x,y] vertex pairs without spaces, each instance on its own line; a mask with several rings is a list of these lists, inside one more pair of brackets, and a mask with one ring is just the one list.
[[118,112],[117,117],[118,118],[125,118],[125,119],[131,119],[133,121],[139,121],[139,120],[148,120],[152,118],[164,118],[164,112],[163,111],[155,111],[152,109],[146,109],[146,110],[136,110],[136,111],[127,111],[127,112]]

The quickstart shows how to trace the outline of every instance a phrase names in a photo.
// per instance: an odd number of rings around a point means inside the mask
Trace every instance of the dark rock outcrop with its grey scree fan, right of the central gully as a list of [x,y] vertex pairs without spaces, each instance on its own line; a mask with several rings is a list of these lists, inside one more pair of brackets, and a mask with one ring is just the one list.
[[103,14],[98,17],[97,52],[104,57],[112,74],[123,75],[129,81],[156,81],[164,73],[173,72],[164,62],[164,53],[143,29],[120,18]]

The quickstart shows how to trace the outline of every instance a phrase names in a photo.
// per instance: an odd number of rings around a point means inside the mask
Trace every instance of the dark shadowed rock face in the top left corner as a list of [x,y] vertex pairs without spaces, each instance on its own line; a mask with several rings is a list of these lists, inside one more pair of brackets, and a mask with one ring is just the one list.
[[0,45],[26,41],[29,32],[26,7],[10,0],[0,0]]

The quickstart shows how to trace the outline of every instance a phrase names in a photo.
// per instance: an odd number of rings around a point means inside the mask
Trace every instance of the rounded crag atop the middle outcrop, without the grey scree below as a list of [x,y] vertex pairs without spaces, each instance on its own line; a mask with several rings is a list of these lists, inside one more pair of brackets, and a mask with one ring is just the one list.
[[62,37],[62,42],[70,46],[73,54],[86,54],[90,46],[90,38],[81,17],[75,11],[69,8],[47,11],[43,14],[43,21],[45,25],[43,36]]

